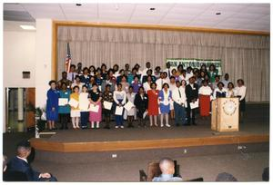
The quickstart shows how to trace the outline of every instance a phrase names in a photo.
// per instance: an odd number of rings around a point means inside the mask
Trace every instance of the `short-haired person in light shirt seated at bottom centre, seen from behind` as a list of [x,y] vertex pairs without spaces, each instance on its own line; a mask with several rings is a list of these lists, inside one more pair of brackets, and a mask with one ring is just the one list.
[[169,158],[163,158],[159,161],[159,168],[162,174],[155,177],[153,181],[182,181],[182,178],[174,177],[175,162]]

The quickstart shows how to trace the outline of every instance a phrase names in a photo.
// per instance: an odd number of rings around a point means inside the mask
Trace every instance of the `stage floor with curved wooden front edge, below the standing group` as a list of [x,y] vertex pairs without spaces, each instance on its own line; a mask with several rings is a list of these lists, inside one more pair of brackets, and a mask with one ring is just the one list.
[[56,131],[56,134],[49,138],[31,139],[31,144],[39,151],[89,152],[268,142],[268,106],[248,105],[248,108],[249,106],[253,108],[248,111],[245,122],[240,124],[239,131],[235,132],[211,131],[210,119],[197,119],[197,126],[179,127],[174,126],[172,121],[171,128],[115,129],[112,122],[110,130]]

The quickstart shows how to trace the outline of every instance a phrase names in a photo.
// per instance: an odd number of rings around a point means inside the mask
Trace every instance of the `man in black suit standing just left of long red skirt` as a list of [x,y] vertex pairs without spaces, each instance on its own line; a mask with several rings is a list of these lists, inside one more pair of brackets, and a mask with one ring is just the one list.
[[[187,97],[187,124],[190,125],[190,121],[193,125],[196,123],[196,109],[190,108],[190,102],[196,102],[198,99],[198,85],[195,83],[196,77],[191,76],[188,79],[188,84],[186,85],[186,97]],[[191,114],[191,116],[190,116]]]

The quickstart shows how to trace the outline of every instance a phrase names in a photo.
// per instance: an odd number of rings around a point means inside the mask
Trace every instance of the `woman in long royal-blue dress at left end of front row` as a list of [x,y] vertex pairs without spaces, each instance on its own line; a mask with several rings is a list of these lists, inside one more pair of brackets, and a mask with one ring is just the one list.
[[59,93],[56,90],[56,81],[50,81],[48,84],[50,85],[50,89],[46,94],[46,121],[49,131],[52,131],[56,130],[55,122],[58,120]]

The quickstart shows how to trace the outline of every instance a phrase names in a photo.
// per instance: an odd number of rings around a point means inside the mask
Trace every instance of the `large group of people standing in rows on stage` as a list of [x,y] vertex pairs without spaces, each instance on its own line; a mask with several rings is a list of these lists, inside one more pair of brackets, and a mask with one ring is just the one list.
[[[210,115],[210,101],[219,97],[238,97],[242,115],[246,86],[239,79],[235,88],[228,79],[226,73],[224,80],[220,81],[214,64],[208,67],[202,64],[200,69],[184,69],[182,64],[171,67],[167,63],[166,69],[157,66],[153,70],[151,63],[147,62],[142,71],[137,63],[132,69],[126,63],[125,69],[120,70],[117,64],[110,69],[105,63],[98,68],[91,65],[83,69],[82,63],[72,64],[70,72],[63,72],[58,82],[49,82],[46,102],[48,129],[56,129],[57,121],[61,123],[60,129],[67,129],[70,118],[74,129],[86,129],[88,121],[91,129],[99,128],[102,115],[106,129],[110,129],[112,115],[115,115],[115,128],[124,128],[124,120],[128,127],[134,127],[135,120],[139,126],[146,126],[146,115],[150,126],[158,126],[158,116],[161,127],[170,127],[170,119],[174,119],[177,126],[197,125],[197,108],[201,117],[207,117]],[[59,99],[67,99],[67,102],[60,105]],[[87,106],[96,107],[96,111],[80,111],[81,105],[75,102],[83,99],[86,99]],[[111,108],[106,107],[106,102],[112,104]],[[124,108],[127,102],[133,104],[130,110]]]

